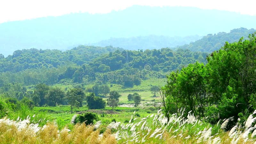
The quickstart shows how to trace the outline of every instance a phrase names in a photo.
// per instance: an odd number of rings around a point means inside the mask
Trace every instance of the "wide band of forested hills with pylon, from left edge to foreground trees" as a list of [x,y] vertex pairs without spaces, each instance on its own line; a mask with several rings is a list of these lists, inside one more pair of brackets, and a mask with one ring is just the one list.
[[[0,59],[0,86],[12,82],[22,85],[56,84],[67,80],[68,84],[111,81],[132,86],[140,84],[141,76],[146,79],[153,74],[165,77],[167,72],[181,69],[189,63],[205,63],[207,55],[205,52],[173,51],[169,48],[130,51],[113,47],[79,46],[66,52],[24,49]],[[116,73],[121,77],[106,78]],[[133,80],[125,81],[123,76],[132,77]]]

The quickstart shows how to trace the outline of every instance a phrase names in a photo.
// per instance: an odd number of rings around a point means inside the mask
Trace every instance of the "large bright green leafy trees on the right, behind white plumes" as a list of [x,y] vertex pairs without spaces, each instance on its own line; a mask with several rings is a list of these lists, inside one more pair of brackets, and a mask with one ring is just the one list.
[[206,65],[196,62],[167,76],[161,93],[165,115],[186,108],[211,123],[238,114],[245,120],[246,112],[255,108],[255,35],[226,42],[207,57]]

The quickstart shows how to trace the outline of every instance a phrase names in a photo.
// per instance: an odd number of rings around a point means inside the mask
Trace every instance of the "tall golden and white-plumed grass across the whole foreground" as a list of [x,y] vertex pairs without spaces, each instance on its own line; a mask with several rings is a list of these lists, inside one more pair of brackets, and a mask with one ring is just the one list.
[[[135,113],[133,113],[134,115]],[[184,117],[184,110],[173,114],[169,122],[159,110],[146,117],[131,116],[129,123],[112,122],[100,133],[101,122],[94,125],[76,124],[72,130],[58,129],[56,123],[33,124],[31,116],[25,119],[0,119],[2,143],[61,143],[61,144],[115,144],[115,143],[246,143],[256,141],[256,111],[249,116],[245,126],[235,125],[229,132],[224,124],[211,125],[198,120],[193,114]]]

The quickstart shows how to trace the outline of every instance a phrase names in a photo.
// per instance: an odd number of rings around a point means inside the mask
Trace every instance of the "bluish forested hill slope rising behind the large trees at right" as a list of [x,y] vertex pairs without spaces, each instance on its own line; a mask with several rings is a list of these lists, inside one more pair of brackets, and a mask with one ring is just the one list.
[[213,52],[219,50],[220,47],[224,46],[225,42],[233,43],[238,42],[241,37],[248,39],[248,35],[252,34],[256,29],[247,29],[247,28],[236,28],[230,30],[229,33],[219,32],[218,34],[208,34],[202,39],[199,39],[190,44],[185,44],[178,46],[176,48],[189,49],[190,51],[200,51],[200,52]]

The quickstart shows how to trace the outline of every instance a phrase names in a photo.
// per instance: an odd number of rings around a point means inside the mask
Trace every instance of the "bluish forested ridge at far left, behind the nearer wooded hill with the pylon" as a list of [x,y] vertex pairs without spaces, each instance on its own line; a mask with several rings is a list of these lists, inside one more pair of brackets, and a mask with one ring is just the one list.
[[0,54],[0,72],[19,72],[25,69],[57,68],[61,65],[76,63],[82,65],[100,54],[123,50],[122,48],[95,47],[80,45],[71,50],[61,52],[60,50],[38,50],[23,49],[14,51],[12,55],[4,58]]

